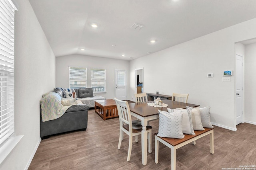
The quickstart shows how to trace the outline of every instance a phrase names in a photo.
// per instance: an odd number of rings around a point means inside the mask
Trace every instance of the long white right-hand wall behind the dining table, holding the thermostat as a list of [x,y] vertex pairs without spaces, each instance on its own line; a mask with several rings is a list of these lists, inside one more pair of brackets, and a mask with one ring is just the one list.
[[[130,86],[134,69],[143,67],[144,92],[189,94],[188,103],[211,106],[212,123],[235,131],[234,76],[222,82],[222,72],[235,70],[234,43],[256,37],[254,30],[256,19],[135,59],[130,62]],[[208,73],[214,77],[207,78]]]

